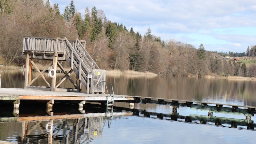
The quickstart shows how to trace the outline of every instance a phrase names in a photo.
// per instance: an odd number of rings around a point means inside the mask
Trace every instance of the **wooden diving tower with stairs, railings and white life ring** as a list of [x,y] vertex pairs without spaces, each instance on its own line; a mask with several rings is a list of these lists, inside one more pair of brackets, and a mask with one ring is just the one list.
[[[85,49],[85,41],[76,39],[69,41],[65,38],[51,37],[24,37],[22,54],[26,55],[26,70],[24,88],[31,88],[34,82],[42,77],[47,87],[51,91],[58,91],[60,84],[69,80],[80,92],[82,86],[86,88],[87,93],[99,94],[105,92],[102,86],[106,79],[106,70],[100,69],[90,54]],[[50,61],[44,68],[39,68],[35,60]],[[66,61],[69,70],[65,68],[61,61]],[[38,72],[38,75],[32,77],[32,71]],[[50,81],[43,75],[48,71],[51,77]],[[56,72],[61,71],[65,74],[61,79],[56,79]],[[74,72],[76,79],[72,79],[70,74]],[[33,87],[32,87],[33,88]],[[70,88],[61,88],[62,91]]]

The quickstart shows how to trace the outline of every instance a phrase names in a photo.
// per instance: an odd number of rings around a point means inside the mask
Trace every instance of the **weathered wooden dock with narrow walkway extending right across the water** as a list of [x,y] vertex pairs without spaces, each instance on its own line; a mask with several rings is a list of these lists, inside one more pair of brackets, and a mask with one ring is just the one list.
[[[0,102],[13,103],[13,112],[19,113],[19,106],[23,100],[30,100],[33,102],[46,103],[46,111],[51,112],[54,102],[61,101],[67,103],[78,103],[79,110],[83,110],[85,102],[97,102],[101,105],[106,105],[108,94],[87,94],[83,92],[52,92],[36,89],[19,89],[19,88],[0,88]],[[244,115],[246,119],[250,119],[255,114],[255,106],[243,106],[235,104],[222,104],[213,102],[201,102],[191,100],[174,100],[163,98],[149,98],[140,96],[116,95],[114,96],[116,102],[128,102],[129,105],[134,103],[152,103],[160,105],[170,105],[172,112],[176,113],[179,106],[189,107],[191,110],[207,111],[209,116],[212,112]]]

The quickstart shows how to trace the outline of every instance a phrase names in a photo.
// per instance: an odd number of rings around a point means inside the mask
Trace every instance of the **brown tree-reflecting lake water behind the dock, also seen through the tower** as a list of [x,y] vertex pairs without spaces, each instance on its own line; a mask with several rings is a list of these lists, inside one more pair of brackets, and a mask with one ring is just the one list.
[[[24,87],[24,71],[0,70],[0,74],[1,87]],[[37,72],[32,72],[32,78],[36,75]],[[48,73],[44,75],[50,81]],[[62,76],[57,73],[57,80]],[[71,78],[75,79],[74,73]],[[107,74],[106,83],[113,85],[115,94],[256,106],[255,80]],[[32,85],[47,86],[41,77]],[[74,88],[74,85],[66,80],[60,87]],[[82,92],[86,92],[83,87]]]

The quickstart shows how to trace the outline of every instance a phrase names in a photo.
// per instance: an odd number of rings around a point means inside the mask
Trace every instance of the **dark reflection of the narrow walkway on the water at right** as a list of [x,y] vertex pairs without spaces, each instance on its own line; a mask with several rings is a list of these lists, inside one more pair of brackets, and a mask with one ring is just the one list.
[[[140,104],[139,104],[140,105]],[[139,107],[137,105],[137,107]],[[219,116],[213,116],[213,113],[222,113],[222,114],[233,114],[233,115],[248,115],[248,113],[244,113],[246,109],[237,109],[238,112],[234,112],[234,109],[232,108],[221,108],[217,110],[216,106],[201,106],[201,108],[198,105],[190,105],[190,110],[192,111],[205,111],[208,113],[208,115],[196,115],[196,114],[189,114],[189,116],[183,116],[179,114],[179,107],[187,107],[186,105],[171,105],[169,114],[165,113],[157,113],[157,112],[150,112],[143,109],[136,109],[134,107],[129,108],[126,106],[126,108],[121,108],[118,105],[115,107],[115,109],[123,109],[127,111],[132,111],[133,116],[143,116],[143,117],[150,117],[150,118],[158,118],[158,119],[165,119],[165,120],[173,120],[173,121],[181,121],[181,122],[189,122],[189,123],[198,123],[198,124],[208,124],[208,125],[230,125],[232,128],[238,128],[239,126],[247,127],[247,129],[254,129],[256,128],[256,124],[253,120],[251,120],[252,114],[249,114],[250,116],[246,116],[245,119],[237,119],[237,118],[230,118],[229,117],[219,117]],[[208,109],[207,109],[208,108]]]

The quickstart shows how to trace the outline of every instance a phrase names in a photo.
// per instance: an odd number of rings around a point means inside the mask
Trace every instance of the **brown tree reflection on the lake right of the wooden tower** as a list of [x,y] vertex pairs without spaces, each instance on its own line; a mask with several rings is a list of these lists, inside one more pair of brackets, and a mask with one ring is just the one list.
[[[121,75],[106,77],[113,84],[115,94],[156,97],[178,100],[216,100],[219,102],[255,101],[254,81],[197,77]],[[220,101],[221,100],[221,101]]]

